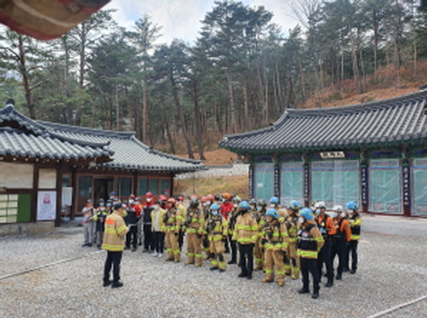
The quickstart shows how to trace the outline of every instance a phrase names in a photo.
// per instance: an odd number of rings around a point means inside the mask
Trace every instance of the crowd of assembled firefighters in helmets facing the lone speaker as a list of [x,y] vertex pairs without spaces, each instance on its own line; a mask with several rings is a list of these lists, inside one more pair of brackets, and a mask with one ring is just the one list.
[[[354,201],[348,202],[345,209],[334,206],[332,212],[327,212],[323,201],[305,208],[292,200],[285,208],[277,197],[266,202],[243,201],[231,194],[191,196],[188,208],[184,207],[183,198],[159,196],[154,201],[151,193],[145,197],[144,203],[135,196],[123,203],[129,227],[126,248],[132,244],[132,251],[137,250],[138,240],[142,244],[139,233],[144,233],[143,252],[152,251],[154,256],[162,257],[166,243],[166,260],[179,263],[185,235],[186,265],[201,267],[203,260],[210,260],[210,270],[224,272],[225,254],[231,253],[228,264],[238,263],[238,277],[248,280],[252,279],[253,270],[263,270],[263,282],[274,282],[276,277],[278,285],[283,286],[285,275],[297,280],[301,273],[301,294],[310,293],[311,273],[312,298],[319,297],[324,264],[325,287],[332,287],[334,279],[341,280],[343,272],[354,274],[357,270],[362,220]],[[117,199],[111,200],[117,204]],[[102,206],[97,211],[103,213]],[[334,275],[336,256],[338,267]]]

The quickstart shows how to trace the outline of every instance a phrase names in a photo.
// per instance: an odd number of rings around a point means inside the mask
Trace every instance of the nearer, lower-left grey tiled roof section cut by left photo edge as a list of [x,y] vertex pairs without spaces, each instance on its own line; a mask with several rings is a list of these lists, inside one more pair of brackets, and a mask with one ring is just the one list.
[[13,105],[0,110],[0,155],[23,159],[108,160],[107,143],[85,142],[60,136],[30,120]]

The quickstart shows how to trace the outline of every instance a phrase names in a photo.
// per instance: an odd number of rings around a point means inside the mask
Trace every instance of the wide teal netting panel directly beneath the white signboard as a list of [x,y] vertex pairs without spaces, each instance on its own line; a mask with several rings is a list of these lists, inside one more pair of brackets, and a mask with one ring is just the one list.
[[312,201],[325,201],[327,208],[360,202],[359,161],[312,162]]

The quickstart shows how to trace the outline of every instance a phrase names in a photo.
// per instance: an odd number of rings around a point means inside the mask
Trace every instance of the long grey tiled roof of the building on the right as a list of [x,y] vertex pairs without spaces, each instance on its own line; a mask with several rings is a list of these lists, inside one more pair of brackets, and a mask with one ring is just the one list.
[[427,138],[427,90],[389,100],[321,109],[286,110],[270,127],[226,135],[237,153],[337,149]]

